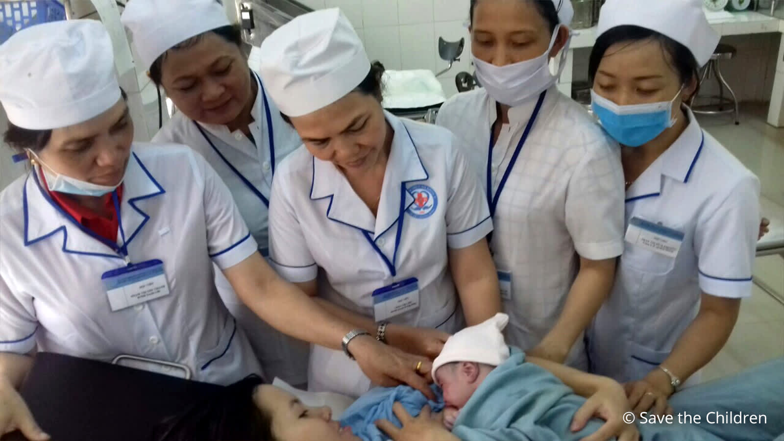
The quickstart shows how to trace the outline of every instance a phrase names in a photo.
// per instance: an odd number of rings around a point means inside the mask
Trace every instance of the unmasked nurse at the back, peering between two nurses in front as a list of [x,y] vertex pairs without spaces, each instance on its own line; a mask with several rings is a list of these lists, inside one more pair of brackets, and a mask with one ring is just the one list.
[[[241,29],[215,0],[134,0],[122,23],[177,112],[153,142],[194,148],[226,183],[263,256],[272,176],[302,141],[281,118],[241,52]],[[268,380],[307,381],[308,346],[273,330],[238,300],[216,268],[223,302],[248,333]]]

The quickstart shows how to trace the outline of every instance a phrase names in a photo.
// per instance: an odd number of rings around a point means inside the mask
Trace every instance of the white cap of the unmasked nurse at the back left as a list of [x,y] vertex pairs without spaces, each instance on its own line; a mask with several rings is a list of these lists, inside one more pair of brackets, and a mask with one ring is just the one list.
[[230,26],[216,0],[132,0],[120,21],[131,31],[133,47],[145,69],[188,38]]

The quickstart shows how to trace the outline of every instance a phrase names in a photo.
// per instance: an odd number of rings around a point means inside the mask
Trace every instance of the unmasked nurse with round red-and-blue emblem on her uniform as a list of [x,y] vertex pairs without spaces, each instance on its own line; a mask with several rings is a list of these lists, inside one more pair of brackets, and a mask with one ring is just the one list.
[[[274,268],[423,359],[447,333],[499,312],[485,240],[492,220],[476,173],[452,133],[383,111],[383,67],[371,65],[343,13],[297,17],[260,55],[270,96],[304,142],[272,185]],[[370,382],[349,362],[314,348],[310,388],[365,392]]]

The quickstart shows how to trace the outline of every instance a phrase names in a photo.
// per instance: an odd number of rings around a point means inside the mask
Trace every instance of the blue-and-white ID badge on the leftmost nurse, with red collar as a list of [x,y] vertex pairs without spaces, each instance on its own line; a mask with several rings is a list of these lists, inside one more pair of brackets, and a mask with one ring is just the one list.
[[163,262],[158,259],[104,272],[100,279],[112,312],[169,295]]

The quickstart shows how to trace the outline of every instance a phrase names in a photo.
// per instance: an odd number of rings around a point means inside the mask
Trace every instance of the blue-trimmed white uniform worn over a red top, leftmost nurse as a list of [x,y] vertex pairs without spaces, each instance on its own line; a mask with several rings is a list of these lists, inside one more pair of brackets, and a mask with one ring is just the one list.
[[134,144],[123,185],[129,258],[161,260],[169,295],[112,312],[101,276],[125,261],[28,173],[0,193],[0,352],[37,347],[106,362],[139,355],[223,385],[260,373],[213,282],[213,263],[231,268],[257,248],[226,185],[176,144]]

